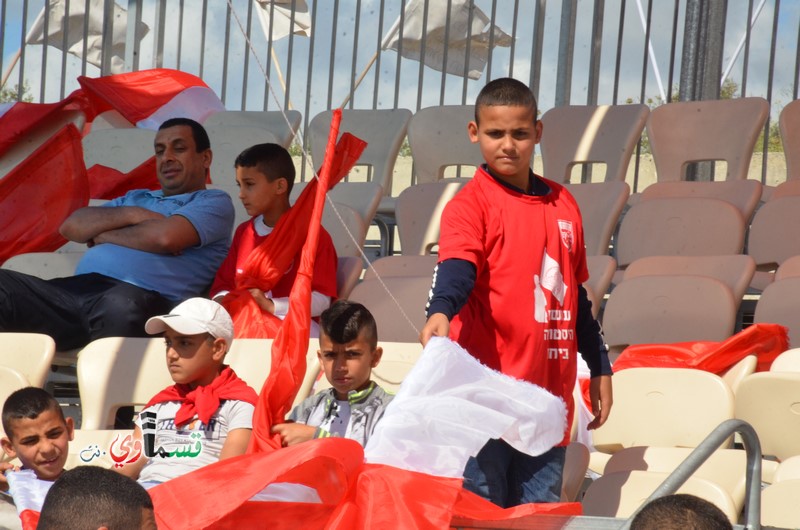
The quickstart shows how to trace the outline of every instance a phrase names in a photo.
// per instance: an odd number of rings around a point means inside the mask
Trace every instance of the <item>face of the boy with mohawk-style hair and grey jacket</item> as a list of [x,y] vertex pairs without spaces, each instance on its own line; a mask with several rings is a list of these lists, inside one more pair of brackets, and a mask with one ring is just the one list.
[[347,399],[352,390],[363,390],[369,385],[372,369],[378,366],[383,350],[370,346],[362,330],[356,340],[347,344],[333,342],[324,333],[319,334],[319,362],[325,377],[336,391],[336,399]]

